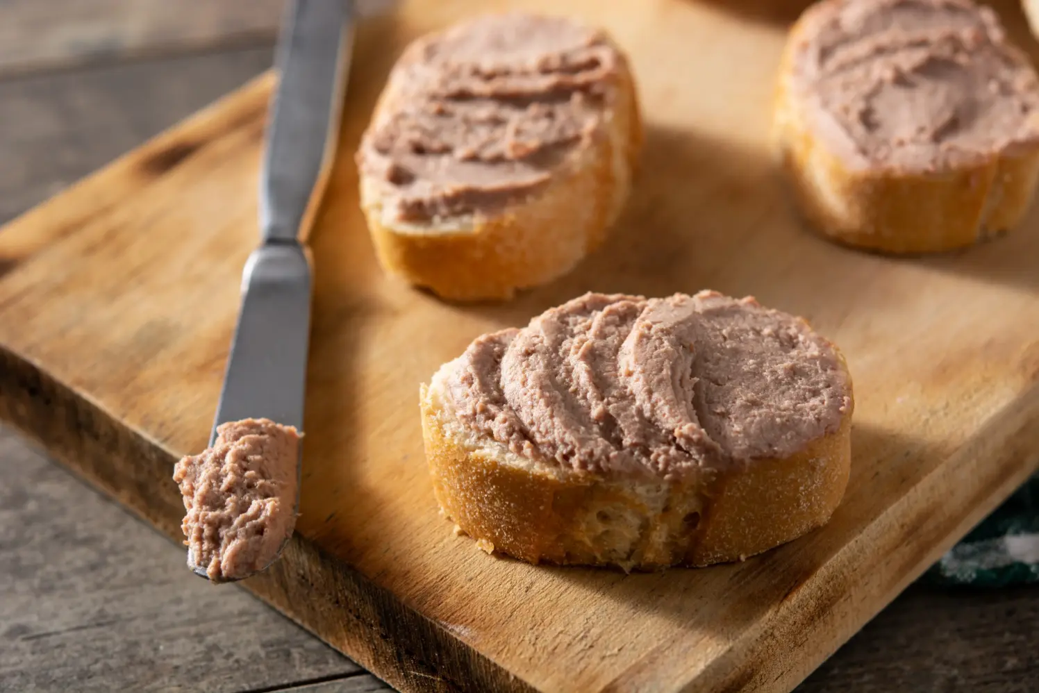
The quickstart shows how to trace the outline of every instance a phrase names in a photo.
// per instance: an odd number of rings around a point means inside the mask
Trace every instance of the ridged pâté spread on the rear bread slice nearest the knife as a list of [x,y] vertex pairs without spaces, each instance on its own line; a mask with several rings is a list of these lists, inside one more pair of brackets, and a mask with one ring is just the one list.
[[489,15],[411,44],[357,152],[395,222],[490,214],[606,136],[622,57],[574,21]]

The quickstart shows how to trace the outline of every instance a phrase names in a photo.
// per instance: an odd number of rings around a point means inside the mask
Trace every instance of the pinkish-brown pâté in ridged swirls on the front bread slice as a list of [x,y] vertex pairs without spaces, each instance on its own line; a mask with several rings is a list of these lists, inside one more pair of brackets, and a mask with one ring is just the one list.
[[453,416],[516,454],[665,480],[790,456],[852,406],[807,323],[712,291],[589,293],[480,337],[444,375]]

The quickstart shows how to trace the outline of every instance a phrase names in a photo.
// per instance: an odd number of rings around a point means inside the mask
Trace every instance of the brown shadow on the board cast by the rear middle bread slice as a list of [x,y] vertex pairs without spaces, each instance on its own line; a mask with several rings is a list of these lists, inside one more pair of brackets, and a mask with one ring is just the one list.
[[[810,258],[833,251],[789,218],[778,180],[762,154],[659,125],[647,125],[645,134],[632,195],[602,247],[568,274],[520,292],[512,301],[460,309],[503,324],[525,324],[586,291],[760,293],[776,284],[761,271],[775,255],[773,244],[803,246]],[[785,284],[803,279],[790,278]],[[778,302],[776,296],[760,297]]]

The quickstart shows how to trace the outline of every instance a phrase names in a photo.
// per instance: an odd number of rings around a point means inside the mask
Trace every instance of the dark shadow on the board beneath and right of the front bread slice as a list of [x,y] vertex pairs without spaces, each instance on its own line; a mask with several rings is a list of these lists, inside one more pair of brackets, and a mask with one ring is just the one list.
[[[902,495],[925,476],[921,464],[924,445],[902,432],[882,430],[868,423],[852,432],[852,474],[844,501],[824,530],[809,532],[788,544],[747,559],[705,568],[672,568],[662,572],[633,572],[601,568],[549,567],[561,578],[600,596],[636,606],[640,613],[661,618],[665,628],[700,631],[704,638],[724,639],[746,633],[749,624],[765,617],[777,605],[794,599],[797,592],[836,551],[847,544],[872,518],[871,498]],[[889,584],[873,586],[890,590],[908,580],[931,537],[917,527],[903,528],[901,543],[908,545],[901,562],[891,569]],[[913,544],[920,551],[913,551]],[[867,556],[867,565],[888,557]],[[810,598],[801,608],[799,628],[811,629],[841,601],[848,598],[851,575],[828,575],[825,583],[810,588]],[[740,598],[726,597],[739,593]],[[801,595],[805,597],[806,595]],[[666,639],[665,639],[666,640]],[[688,640],[683,640],[688,645]],[[668,657],[666,645],[660,652]],[[672,654],[673,655],[673,654]]]

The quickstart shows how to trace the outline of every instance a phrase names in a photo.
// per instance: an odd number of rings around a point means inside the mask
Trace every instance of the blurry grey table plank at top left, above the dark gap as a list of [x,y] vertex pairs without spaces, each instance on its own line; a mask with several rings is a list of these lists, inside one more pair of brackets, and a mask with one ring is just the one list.
[[0,77],[134,55],[269,43],[285,0],[3,0]]

